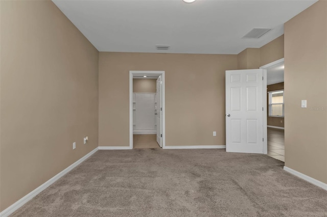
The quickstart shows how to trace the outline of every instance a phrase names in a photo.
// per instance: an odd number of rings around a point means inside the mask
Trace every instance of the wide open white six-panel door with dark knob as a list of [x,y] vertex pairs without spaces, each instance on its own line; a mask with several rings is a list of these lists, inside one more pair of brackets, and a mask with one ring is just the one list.
[[226,151],[264,153],[263,69],[226,71]]

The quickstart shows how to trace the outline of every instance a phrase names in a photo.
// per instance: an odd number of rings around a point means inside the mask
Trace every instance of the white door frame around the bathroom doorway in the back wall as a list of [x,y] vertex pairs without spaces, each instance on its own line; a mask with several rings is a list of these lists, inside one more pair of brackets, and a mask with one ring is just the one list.
[[129,148],[133,149],[133,76],[161,75],[162,149],[166,147],[165,71],[129,71]]

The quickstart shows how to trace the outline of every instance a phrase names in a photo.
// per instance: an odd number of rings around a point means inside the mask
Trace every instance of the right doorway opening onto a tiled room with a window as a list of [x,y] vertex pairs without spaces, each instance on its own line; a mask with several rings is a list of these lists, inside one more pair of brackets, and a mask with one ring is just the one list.
[[284,58],[260,68],[267,70],[267,155],[285,162]]

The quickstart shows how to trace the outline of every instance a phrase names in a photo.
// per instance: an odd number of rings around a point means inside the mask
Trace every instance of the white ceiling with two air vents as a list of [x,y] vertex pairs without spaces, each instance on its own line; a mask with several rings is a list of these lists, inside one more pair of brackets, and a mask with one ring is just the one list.
[[[284,23],[317,0],[53,2],[99,51],[238,54],[281,36]],[[242,39],[253,28],[273,30]]]

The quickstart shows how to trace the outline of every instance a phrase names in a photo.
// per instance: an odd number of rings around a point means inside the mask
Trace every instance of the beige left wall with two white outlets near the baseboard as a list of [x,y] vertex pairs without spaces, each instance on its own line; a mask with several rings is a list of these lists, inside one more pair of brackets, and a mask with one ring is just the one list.
[[51,1],[0,2],[2,211],[98,146],[99,52]]

